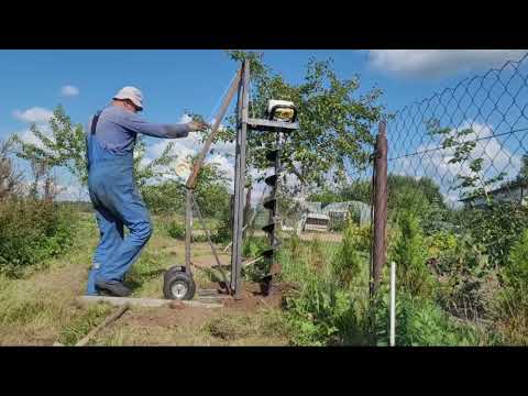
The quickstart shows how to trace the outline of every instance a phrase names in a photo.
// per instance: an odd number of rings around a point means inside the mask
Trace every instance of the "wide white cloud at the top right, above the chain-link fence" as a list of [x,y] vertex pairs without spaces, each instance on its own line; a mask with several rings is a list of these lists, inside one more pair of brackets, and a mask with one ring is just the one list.
[[438,77],[518,61],[528,50],[369,50],[370,64],[403,76]]

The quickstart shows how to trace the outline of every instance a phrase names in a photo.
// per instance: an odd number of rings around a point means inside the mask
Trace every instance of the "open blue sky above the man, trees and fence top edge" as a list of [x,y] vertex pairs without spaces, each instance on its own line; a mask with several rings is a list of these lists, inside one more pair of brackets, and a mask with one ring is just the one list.
[[[264,51],[264,62],[296,82],[310,57],[332,57],[342,78],[359,74],[361,91],[382,88],[382,102],[396,110],[525,53],[292,50]],[[222,51],[0,51],[0,139],[28,130],[58,103],[85,123],[125,85],[143,90],[147,120],[178,122],[186,109],[209,116],[237,66]],[[69,96],[62,95],[65,86]]]

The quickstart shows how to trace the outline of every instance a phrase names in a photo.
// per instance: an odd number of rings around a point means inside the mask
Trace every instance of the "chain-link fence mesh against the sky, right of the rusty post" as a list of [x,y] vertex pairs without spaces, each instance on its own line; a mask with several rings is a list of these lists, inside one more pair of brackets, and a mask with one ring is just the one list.
[[388,172],[429,177],[454,205],[514,187],[528,147],[527,78],[525,56],[398,110]]

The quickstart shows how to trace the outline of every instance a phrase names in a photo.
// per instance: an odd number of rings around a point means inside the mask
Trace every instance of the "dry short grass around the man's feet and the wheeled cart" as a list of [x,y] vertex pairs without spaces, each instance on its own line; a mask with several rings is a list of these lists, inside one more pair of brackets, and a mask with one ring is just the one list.
[[[184,242],[164,231],[154,217],[154,234],[134,264],[127,282],[134,287],[134,297],[162,298],[163,272],[174,264],[184,264]],[[73,249],[61,258],[28,268],[16,279],[0,275],[0,345],[52,345],[58,341],[73,345],[99,324],[116,308],[107,305],[81,307],[76,297],[82,295],[98,242],[91,215],[80,220]],[[193,245],[193,260],[211,261],[207,243]],[[195,271],[200,286],[211,282],[211,274]],[[234,309],[180,311],[168,308],[133,308],[103,329],[90,345],[274,345],[287,344],[283,332],[274,331],[279,314],[245,312]],[[222,329],[223,321],[243,323],[222,339],[210,331]],[[208,324],[211,323],[211,324]],[[229,326],[228,326],[229,328]],[[221,331],[221,330],[219,330]]]

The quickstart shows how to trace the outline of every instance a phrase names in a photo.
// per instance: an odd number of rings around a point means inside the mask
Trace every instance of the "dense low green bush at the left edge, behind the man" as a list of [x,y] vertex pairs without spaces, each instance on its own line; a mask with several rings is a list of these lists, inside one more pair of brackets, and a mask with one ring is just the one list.
[[32,199],[0,202],[0,268],[18,276],[72,246],[76,216],[57,204]]

